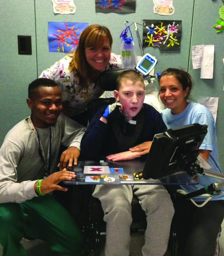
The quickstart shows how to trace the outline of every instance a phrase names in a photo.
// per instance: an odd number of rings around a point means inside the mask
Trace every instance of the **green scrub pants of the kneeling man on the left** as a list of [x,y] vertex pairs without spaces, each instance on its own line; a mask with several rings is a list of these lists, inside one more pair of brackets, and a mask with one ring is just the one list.
[[22,203],[0,204],[0,244],[3,256],[25,256],[23,237],[44,240],[51,250],[81,255],[82,233],[72,217],[50,194]]

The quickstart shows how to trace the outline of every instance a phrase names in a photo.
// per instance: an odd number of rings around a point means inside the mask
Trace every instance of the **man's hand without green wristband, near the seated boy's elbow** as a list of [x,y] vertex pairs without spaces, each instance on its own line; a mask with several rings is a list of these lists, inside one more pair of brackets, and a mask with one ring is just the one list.
[[67,164],[69,167],[72,167],[73,161],[74,165],[77,165],[77,160],[80,155],[80,150],[76,147],[69,147],[66,149],[60,158],[60,163],[58,164],[58,167],[60,170],[63,170],[67,167]]

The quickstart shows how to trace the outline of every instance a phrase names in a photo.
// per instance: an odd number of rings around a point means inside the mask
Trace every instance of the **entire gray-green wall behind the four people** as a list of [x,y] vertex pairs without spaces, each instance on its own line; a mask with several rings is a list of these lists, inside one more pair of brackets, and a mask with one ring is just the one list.
[[[222,0],[174,1],[175,13],[172,16],[160,16],[153,12],[153,1],[136,0],[134,14],[102,14],[95,12],[94,0],[74,0],[75,14],[54,14],[51,0],[8,0],[0,10],[2,24],[1,70],[0,70],[0,118],[2,143],[7,131],[19,120],[29,114],[26,106],[27,86],[38,75],[54,62],[64,56],[63,53],[48,52],[48,21],[88,22],[107,26],[113,36],[112,52],[120,54],[120,32],[124,29],[124,21],[142,23],[143,19],[182,20],[182,45],[180,51],[160,51],[158,48],[145,48],[159,60],[155,71],[163,71],[168,67],[182,67],[192,75],[195,86],[192,98],[215,96],[220,97],[217,116],[217,136],[220,149],[220,164],[224,169],[224,124],[223,83],[224,68],[222,58],[224,32],[216,35],[213,28],[218,17],[218,8]],[[131,26],[136,54],[140,55],[138,41]],[[138,25],[142,37],[142,26]],[[4,35],[4,36],[2,36]],[[32,36],[32,55],[18,55],[17,35]],[[215,62],[214,79],[200,79],[200,70],[192,70],[190,49],[192,45],[214,44]]]

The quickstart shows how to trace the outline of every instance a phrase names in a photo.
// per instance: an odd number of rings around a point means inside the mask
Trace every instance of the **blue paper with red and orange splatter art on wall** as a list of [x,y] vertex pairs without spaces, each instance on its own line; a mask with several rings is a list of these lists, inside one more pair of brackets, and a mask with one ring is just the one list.
[[76,50],[81,32],[88,23],[48,22],[49,52],[71,52]]

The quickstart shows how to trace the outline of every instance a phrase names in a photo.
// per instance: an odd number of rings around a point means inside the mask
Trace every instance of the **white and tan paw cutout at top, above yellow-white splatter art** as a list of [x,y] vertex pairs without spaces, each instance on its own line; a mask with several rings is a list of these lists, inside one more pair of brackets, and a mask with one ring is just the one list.
[[172,15],[174,14],[173,0],[153,0],[154,13],[160,15]]

